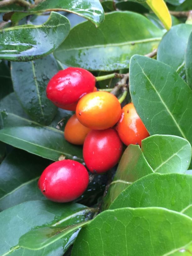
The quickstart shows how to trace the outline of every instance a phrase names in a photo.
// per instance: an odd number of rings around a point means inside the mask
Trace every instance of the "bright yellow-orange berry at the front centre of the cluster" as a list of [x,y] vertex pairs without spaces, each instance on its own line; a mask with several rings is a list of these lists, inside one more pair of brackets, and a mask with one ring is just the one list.
[[121,113],[118,99],[108,92],[88,93],[79,100],[76,108],[79,122],[93,130],[114,126]]

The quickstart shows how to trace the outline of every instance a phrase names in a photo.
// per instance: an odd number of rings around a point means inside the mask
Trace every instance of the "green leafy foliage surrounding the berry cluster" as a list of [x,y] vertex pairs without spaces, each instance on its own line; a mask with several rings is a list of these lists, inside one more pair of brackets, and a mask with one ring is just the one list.
[[[0,256],[192,254],[192,3],[166,1],[167,31],[145,2],[0,1]],[[58,204],[37,181],[60,157],[83,163],[63,136],[73,112],[45,94],[68,66],[129,72],[123,104],[133,102],[150,137]]]

